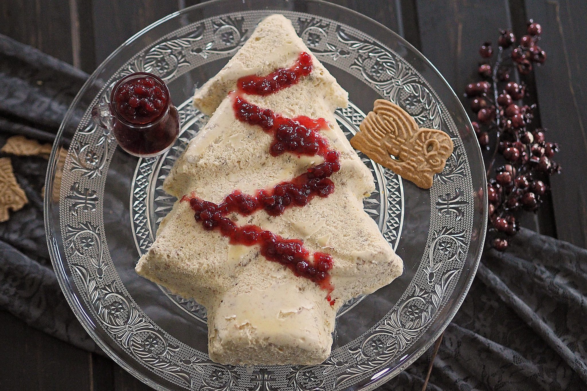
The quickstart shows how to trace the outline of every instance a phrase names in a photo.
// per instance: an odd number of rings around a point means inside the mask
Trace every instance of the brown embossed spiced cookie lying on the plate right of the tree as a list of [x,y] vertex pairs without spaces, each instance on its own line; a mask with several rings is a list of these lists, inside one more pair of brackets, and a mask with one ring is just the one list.
[[453,153],[448,134],[420,128],[410,114],[388,100],[377,99],[359,129],[350,139],[353,148],[423,189],[432,187],[434,174],[443,171]]

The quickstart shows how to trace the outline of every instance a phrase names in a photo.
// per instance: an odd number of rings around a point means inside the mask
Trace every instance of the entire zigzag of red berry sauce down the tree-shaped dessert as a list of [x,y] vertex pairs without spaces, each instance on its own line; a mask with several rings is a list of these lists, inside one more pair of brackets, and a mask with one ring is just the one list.
[[[278,69],[265,77],[242,77],[238,80],[239,92],[268,95],[297,83],[300,77],[307,76],[310,72],[312,59],[304,52],[289,69]],[[324,158],[324,162],[308,168],[291,181],[275,185],[272,189],[259,189],[254,195],[235,190],[221,203],[216,204],[192,194],[185,195],[181,202],[190,203],[195,212],[195,220],[205,230],[220,232],[230,239],[231,244],[259,245],[261,254],[266,259],[288,267],[296,276],[308,278],[326,290],[326,300],[333,305],[335,300],[330,298],[330,293],[334,287],[330,283],[329,274],[332,257],[329,254],[311,254],[303,246],[302,240],[285,239],[254,225],[239,227],[227,217],[232,212],[247,216],[260,209],[264,209],[268,215],[279,216],[286,208],[304,206],[315,196],[328,197],[334,191],[334,183],[329,177],[340,170],[338,152],[329,149],[328,141],[319,134],[319,130],[327,127],[328,123],[324,118],[314,120],[304,116],[282,117],[272,110],[248,103],[237,93],[231,94],[237,119],[249,125],[257,125],[272,135],[273,141],[269,149],[272,156],[279,156],[284,152],[298,156],[319,155]],[[313,261],[310,260],[311,256]]]

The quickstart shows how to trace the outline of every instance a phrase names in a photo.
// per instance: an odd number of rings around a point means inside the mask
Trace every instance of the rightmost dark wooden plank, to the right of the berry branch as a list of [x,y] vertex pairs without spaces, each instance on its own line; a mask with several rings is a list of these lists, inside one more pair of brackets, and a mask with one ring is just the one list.
[[526,13],[542,25],[546,51],[537,67],[536,88],[548,140],[561,145],[555,160],[561,175],[551,177],[559,239],[587,246],[587,4],[581,1],[526,0]]

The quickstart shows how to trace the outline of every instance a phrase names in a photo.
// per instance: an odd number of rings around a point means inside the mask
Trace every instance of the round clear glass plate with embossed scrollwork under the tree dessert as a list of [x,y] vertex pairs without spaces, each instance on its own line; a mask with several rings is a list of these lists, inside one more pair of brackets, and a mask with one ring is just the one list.
[[[282,13],[347,91],[337,111],[351,137],[377,98],[422,127],[446,131],[453,155],[430,190],[372,169],[365,210],[404,260],[403,276],[339,312],[321,365],[220,365],[207,354],[205,310],[134,272],[173,198],[161,182],[208,120],[190,104],[255,25]],[[131,72],[166,80],[181,137],[161,157],[137,159],[97,128],[91,108]],[[397,375],[444,330],[477,270],[487,224],[483,159],[458,98],[405,40],[366,16],[311,0],[218,0],[173,13],[137,33],[92,74],[63,120],[47,173],[45,226],[65,297],[82,325],[123,368],[160,390],[359,390]]]

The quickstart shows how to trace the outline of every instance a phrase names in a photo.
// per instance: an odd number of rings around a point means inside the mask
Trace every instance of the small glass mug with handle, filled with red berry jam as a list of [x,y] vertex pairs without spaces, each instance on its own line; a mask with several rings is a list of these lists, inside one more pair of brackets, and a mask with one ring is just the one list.
[[92,118],[112,131],[124,151],[137,157],[163,154],[180,132],[179,115],[167,86],[147,72],[131,73],[117,81],[110,103],[95,106]]

